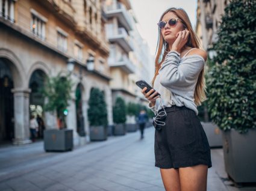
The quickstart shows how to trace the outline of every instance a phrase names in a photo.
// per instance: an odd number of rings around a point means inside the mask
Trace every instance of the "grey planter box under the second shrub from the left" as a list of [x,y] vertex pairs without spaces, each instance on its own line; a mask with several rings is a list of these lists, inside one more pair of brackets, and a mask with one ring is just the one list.
[[108,132],[105,126],[90,127],[90,141],[105,141],[107,140]]

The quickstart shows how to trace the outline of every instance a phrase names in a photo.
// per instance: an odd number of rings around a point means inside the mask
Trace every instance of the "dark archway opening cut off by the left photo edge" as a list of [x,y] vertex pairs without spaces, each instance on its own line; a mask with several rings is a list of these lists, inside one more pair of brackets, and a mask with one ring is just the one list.
[[14,139],[13,76],[5,58],[0,58],[0,142]]

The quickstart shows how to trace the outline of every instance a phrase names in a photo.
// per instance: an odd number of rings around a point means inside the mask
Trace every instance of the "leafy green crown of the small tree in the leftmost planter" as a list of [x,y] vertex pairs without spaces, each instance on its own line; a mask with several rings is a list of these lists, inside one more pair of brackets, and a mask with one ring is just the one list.
[[72,80],[70,75],[63,76],[58,73],[55,77],[48,77],[45,85],[40,92],[46,104],[43,106],[45,111],[56,111],[57,117],[64,119],[63,111],[67,108],[68,101],[71,99]]

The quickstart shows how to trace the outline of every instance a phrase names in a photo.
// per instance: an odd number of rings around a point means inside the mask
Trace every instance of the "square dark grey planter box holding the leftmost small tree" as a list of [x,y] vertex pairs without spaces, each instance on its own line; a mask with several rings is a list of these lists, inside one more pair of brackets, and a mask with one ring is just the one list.
[[48,129],[43,132],[45,151],[69,151],[73,149],[72,129]]

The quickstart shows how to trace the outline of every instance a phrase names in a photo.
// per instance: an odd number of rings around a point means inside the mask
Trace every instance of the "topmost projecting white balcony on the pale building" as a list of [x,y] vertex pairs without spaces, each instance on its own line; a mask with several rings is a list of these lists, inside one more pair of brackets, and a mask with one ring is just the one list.
[[125,6],[119,2],[117,2],[116,5],[107,6],[106,16],[108,18],[117,17],[121,25],[124,26],[127,31],[131,31],[133,29],[128,11]]

